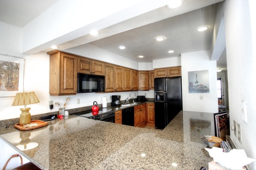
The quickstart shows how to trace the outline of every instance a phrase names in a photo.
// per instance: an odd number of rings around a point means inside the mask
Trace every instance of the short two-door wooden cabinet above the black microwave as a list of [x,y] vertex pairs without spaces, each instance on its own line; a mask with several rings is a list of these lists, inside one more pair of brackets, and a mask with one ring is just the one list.
[[78,57],[78,73],[105,75],[105,63]]

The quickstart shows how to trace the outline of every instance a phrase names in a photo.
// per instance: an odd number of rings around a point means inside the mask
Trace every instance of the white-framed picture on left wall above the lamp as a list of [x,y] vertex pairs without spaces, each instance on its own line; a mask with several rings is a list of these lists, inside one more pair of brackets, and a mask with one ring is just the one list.
[[0,97],[16,96],[24,90],[24,58],[0,54]]

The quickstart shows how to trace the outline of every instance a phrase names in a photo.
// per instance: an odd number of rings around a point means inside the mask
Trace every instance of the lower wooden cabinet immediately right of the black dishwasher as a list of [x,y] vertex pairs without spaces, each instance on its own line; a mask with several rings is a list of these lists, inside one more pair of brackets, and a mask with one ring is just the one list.
[[146,104],[134,107],[134,126],[143,128],[146,125]]

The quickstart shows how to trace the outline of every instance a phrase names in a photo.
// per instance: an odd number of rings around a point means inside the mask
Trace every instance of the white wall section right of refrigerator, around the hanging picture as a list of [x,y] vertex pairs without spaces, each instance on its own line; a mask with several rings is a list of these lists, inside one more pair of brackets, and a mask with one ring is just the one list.
[[[209,50],[183,53],[181,54],[181,63],[183,111],[217,113],[216,61],[210,61]],[[199,70],[209,70],[209,93],[192,94],[188,92],[188,71]],[[203,96],[203,100],[200,100],[200,95]]]

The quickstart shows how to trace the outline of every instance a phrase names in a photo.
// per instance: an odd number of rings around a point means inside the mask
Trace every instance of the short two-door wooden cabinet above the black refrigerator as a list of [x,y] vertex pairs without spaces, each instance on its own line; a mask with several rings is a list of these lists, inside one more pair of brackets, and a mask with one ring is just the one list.
[[154,69],[155,78],[173,77],[173,76],[181,76],[181,66]]

